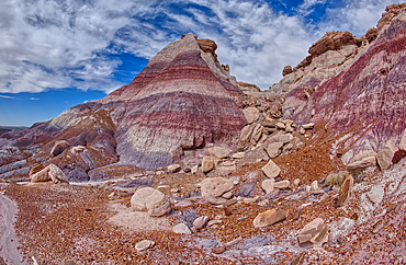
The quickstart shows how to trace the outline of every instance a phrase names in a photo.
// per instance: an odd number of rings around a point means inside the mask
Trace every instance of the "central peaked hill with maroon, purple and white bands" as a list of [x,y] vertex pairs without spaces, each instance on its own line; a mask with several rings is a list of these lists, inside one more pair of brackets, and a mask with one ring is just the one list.
[[126,104],[115,134],[121,162],[157,169],[208,142],[233,148],[246,123],[233,100],[239,94],[212,53],[188,34],[100,102]]

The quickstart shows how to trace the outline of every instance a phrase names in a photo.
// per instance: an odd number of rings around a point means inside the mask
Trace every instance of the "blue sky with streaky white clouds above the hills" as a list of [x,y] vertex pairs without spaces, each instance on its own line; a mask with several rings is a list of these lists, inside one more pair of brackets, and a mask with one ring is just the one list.
[[131,82],[181,34],[268,89],[328,31],[362,36],[391,0],[3,0],[0,126],[31,126]]

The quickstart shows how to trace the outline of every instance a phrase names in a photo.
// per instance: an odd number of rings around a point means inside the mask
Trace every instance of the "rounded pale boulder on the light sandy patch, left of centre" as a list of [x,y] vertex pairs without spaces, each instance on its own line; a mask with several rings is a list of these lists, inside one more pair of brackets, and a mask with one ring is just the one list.
[[131,198],[134,211],[148,211],[151,217],[161,217],[171,211],[169,198],[151,187],[138,188]]

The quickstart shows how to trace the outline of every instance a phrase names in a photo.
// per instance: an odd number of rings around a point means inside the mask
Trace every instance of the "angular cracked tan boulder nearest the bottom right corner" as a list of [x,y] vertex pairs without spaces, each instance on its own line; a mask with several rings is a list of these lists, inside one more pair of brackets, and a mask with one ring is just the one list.
[[328,227],[322,218],[316,218],[300,231],[297,240],[301,246],[320,246],[328,241]]

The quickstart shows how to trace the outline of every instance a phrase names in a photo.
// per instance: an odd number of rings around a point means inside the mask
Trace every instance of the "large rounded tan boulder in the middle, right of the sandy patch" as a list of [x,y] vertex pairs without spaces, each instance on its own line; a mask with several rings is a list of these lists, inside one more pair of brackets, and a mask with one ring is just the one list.
[[233,196],[233,193],[229,193],[233,187],[234,184],[228,178],[207,177],[202,181],[202,197],[214,205],[225,204]]

